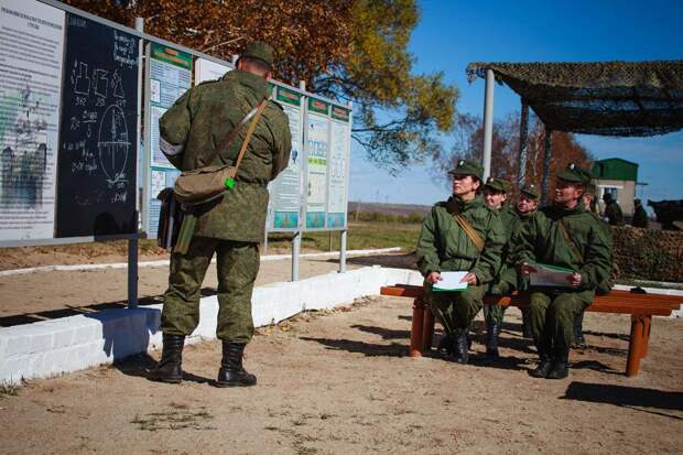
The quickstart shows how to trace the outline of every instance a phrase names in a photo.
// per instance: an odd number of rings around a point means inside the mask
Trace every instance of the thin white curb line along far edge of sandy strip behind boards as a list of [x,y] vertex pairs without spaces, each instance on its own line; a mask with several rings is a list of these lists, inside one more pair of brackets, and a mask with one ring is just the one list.
[[[387,252],[400,252],[400,247],[380,248],[376,250],[350,250],[346,252],[346,256],[371,256],[383,254]],[[339,251],[332,252],[308,252],[299,254],[300,258],[334,258],[339,256]],[[261,262],[280,261],[284,259],[291,259],[292,254],[270,254],[261,256]],[[216,258],[212,262],[216,262]],[[169,259],[161,259],[159,261],[143,261],[138,262],[138,267],[164,267],[169,266]],[[0,271],[0,277],[20,275],[35,272],[52,272],[52,271],[84,271],[84,270],[102,270],[102,269],[128,269],[128,262],[112,262],[112,263],[91,263],[91,264],[75,264],[75,266],[43,266],[31,267],[28,269],[14,269]]]

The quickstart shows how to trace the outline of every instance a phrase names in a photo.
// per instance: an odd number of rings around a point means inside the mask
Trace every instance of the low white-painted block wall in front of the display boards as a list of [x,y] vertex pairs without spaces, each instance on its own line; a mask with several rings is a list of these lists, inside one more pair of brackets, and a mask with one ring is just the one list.
[[[421,284],[416,271],[379,266],[346,273],[330,272],[306,280],[254,289],[254,325],[278,323],[304,310],[332,308],[382,285]],[[216,338],[217,297],[200,301],[200,319],[187,343]],[[45,378],[111,364],[161,346],[161,304],[137,310],[117,308],[54,321],[0,328],[0,382]]]

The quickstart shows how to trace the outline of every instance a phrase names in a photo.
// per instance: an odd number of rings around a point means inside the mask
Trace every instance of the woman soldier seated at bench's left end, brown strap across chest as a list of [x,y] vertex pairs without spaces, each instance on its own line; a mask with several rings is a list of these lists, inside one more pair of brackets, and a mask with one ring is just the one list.
[[[477,194],[484,170],[477,162],[458,161],[453,175],[453,196],[432,207],[418,240],[418,267],[425,278],[425,299],[445,337],[440,353],[468,360],[468,327],[484,304],[483,297],[498,268],[505,232],[498,213]],[[432,285],[442,271],[467,271],[459,293],[435,293]]]

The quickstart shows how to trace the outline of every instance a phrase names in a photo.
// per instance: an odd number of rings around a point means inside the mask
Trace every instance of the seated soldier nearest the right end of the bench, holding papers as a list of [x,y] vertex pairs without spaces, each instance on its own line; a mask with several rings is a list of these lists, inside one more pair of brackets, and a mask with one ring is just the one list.
[[516,247],[523,275],[535,272],[533,262],[574,271],[566,286],[530,289],[531,329],[541,358],[529,372],[535,378],[567,377],[574,319],[593,302],[598,283],[610,272],[608,241],[582,201],[586,183],[575,164],[560,171],[555,204],[524,227]]

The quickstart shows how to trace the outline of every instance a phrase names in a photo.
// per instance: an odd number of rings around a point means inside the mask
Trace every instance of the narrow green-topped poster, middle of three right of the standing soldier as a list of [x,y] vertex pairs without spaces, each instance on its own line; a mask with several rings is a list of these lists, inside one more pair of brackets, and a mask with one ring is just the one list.
[[306,228],[325,228],[329,104],[308,98],[306,156]]

